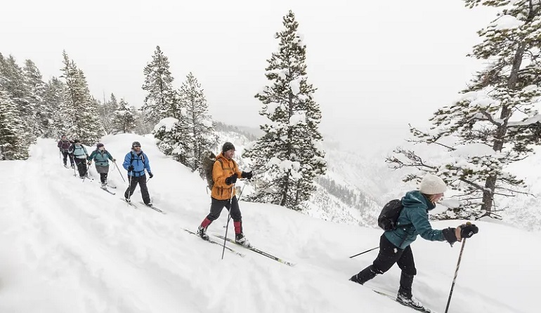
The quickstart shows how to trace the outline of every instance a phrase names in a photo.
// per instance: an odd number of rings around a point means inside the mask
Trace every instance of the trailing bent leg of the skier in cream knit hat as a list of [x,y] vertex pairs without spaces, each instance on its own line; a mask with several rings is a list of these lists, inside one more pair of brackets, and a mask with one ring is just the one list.
[[402,253],[403,250],[391,244],[391,241],[385,237],[385,234],[382,234],[382,237],[379,239],[379,253],[374,262],[372,262],[372,265],[353,275],[349,280],[361,285],[365,284],[365,282],[376,277],[377,274],[387,272],[400,258]]

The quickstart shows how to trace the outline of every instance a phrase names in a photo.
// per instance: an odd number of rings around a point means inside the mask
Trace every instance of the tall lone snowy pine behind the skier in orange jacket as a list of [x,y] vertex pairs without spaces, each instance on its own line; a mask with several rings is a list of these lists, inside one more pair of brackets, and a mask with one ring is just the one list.
[[275,35],[278,51],[267,60],[271,86],[256,94],[263,107],[259,114],[270,122],[261,125],[265,135],[244,156],[254,163],[258,192],[254,201],[268,201],[301,210],[315,190],[314,180],[325,174],[325,152],[318,126],[320,107],[315,88],[306,75],[306,45],[297,34],[299,23],[289,11],[285,29]]

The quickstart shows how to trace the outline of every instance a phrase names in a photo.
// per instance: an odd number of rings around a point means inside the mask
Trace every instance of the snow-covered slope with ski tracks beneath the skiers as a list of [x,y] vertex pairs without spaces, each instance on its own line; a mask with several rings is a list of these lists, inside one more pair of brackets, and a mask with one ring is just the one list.
[[[241,201],[252,244],[296,266],[234,245],[245,257],[226,253],[221,260],[219,246],[183,231],[195,230],[208,213],[205,182],[160,153],[151,138],[116,135],[103,142],[120,164],[133,140],[149,156],[150,195],[167,215],[124,204],[126,184],[116,168],[110,169],[114,196],[98,187],[93,168],[93,182],[74,178],[53,140],[39,140],[27,161],[0,162],[0,312],[413,312],[370,290],[396,293],[398,267],[365,286],[348,281],[377,251],[348,256],[377,246],[378,229]],[[133,199],[138,204],[141,195]],[[209,232],[223,234],[226,217],[224,211]],[[465,246],[449,312],[538,312],[540,236],[478,226]],[[443,312],[460,246],[418,239],[412,248],[414,294]]]

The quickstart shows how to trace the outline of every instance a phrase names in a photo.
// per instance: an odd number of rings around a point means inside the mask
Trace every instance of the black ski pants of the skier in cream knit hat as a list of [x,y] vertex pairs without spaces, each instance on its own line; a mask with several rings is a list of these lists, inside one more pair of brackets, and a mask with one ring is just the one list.
[[417,274],[412,248],[410,246],[405,249],[397,248],[385,237],[385,234],[382,234],[379,239],[379,253],[376,260],[372,262],[372,265],[352,277],[352,280],[359,284],[365,284],[365,282],[376,277],[377,274],[387,272],[394,263],[398,264],[398,267],[402,269],[398,293],[405,295],[406,298],[411,298],[413,277]]

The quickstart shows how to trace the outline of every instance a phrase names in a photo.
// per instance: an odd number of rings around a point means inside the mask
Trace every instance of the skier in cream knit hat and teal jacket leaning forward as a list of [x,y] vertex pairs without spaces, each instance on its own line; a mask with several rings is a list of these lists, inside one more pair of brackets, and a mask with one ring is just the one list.
[[361,285],[365,284],[377,274],[387,272],[397,263],[402,269],[402,274],[396,301],[419,311],[426,310],[422,303],[412,295],[413,277],[417,274],[417,269],[410,244],[417,239],[419,234],[426,240],[448,241],[453,244],[478,232],[478,227],[471,224],[460,225],[457,228],[432,229],[428,211],[436,207],[436,202],[443,197],[445,190],[447,186],[441,178],[426,174],[419,190],[408,192],[402,198],[404,208],[398,216],[397,227],[382,234],[376,260],[349,280]]

